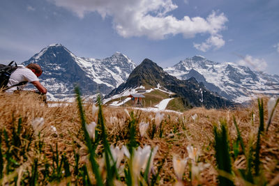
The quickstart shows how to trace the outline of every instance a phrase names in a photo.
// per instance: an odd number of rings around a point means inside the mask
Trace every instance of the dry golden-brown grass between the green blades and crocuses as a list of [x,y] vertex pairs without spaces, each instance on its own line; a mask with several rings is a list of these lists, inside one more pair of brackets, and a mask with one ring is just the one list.
[[[267,120],[267,99],[264,99],[264,118]],[[77,104],[61,104],[60,107],[47,107],[45,104],[36,100],[34,95],[0,95],[0,129],[5,128],[10,133],[11,125],[15,125],[17,120],[22,117],[22,125],[24,130],[33,134],[31,121],[34,118],[42,117],[45,120],[43,130],[41,131],[41,139],[43,139],[45,146],[45,155],[51,157],[50,146],[55,148],[58,144],[59,151],[66,153],[70,164],[74,164],[73,150],[80,153],[81,162],[86,162],[86,150],[82,130],[80,124],[80,116],[77,110]],[[262,169],[264,176],[271,185],[279,184],[279,111],[273,116],[273,122],[269,127],[268,134],[262,138],[262,148],[260,153],[260,160],[262,162]],[[92,105],[84,104],[87,123],[94,121],[92,116]],[[129,108],[127,108],[130,111]],[[105,124],[107,127],[108,140],[110,144],[122,146],[128,142],[128,114],[123,107],[111,108],[103,107]],[[140,121],[153,123],[153,118],[156,113],[145,111],[134,111],[135,115]],[[255,114],[255,121],[252,124],[251,114]],[[194,114],[197,114],[197,119],[193,121]],[[229,130],[229,140],[236,139],[236,129],[232,117],[236,117],[239,125],[244,144],[247,146],[250,138],[257,137],[257,130],[259,126],[259,113],[257,109],[257,102],[250,107],[239,109],[205,109],[194,108],[185,111],[181,114],[165,113],[163,120],[163,137],[159,138],[158,134],[154,139],[146,137],[141,138],[137,132],[137,142],[140,146],[149,144],[151,146],[158,146],[158,153],[155,157],[155,164],[165,159],[163,170],[160,172],[160,185],[172,185],[176,176],[172,167],[173,155],[179,157],[187,157],[188,153],[186,147],[193,145],[199,149],[199,161],[207,162],[211,166],[202,171],[200,174],[200,181],[202,185],[216,185],[217,171],[215,165],[215,151],[213,148],[213,125],[218,125],[220,120],[227,121]],[[56,127],[58,135],[54,134],[50,126]],[[75,141],[75,142],[74,142]],[[36,140],[32,141],[35,143]],[[231,143],[232,144],[232,143]],[[2,146],[3,147],[3,146]],[[101,155],[103,147],[97,148],[98,154]],[[34,149],[35,150],[35,149]],[[244,155],[239,155],[236,160],[232,160],[234,164],[233,169],[245,168]],[[30,169],[30,167],[27,169]],[[71,168],[72,169],[72,168]],[[73,170],[72,170],[73,171]],[[185,183],[189,184],[189,168],[186,168]],[[237,177],[237,176],[236,176]],[[237,182],[236,182],[237,183]],[[239,181],[241,185],[241,180]]]

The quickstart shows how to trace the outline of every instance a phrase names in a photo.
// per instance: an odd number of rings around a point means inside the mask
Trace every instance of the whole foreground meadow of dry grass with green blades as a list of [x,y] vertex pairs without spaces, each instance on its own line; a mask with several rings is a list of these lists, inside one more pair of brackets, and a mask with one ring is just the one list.
[[[150,93],[149,96],[157,98],[157,102],[167,98],[163,93],[160,96]],[[168,107],[179,105],[176,101],[179,102],[174,99]],[[84,113],[80,117],[81,110],[77,103],[47,107],[36,101],[34,95],[1,94],[0,183],[103,185],[107,182],[128,185],[138,182],[142,185],[217,185],[222,182],[221,178],[225,178],[235,185],[278,185],[279,107],[276,108],[268,132],[258,134],[263,119],[266,128],[266,105],[267,99],[264,99],[264,118],[260,117],[262,115],[259,112],[262,111],[255,101],[250,107],[234,110],[195,108],[182,114],[165,113],[162,121],[158,122],[153,112],[134,110],[132,114],[128,108],[128,114],[123,107],[102,107],[102,112],[98,114],[97,111],[96,115],[92,104],[84,104]],[[195,114],[196,118],[193,117]],[[39,128],[32,127],[32,123],[33,126],[36,124],[34,121],[38,123],[38,118],[43,118],[40,119],[43,124],[41,122]],[[82,123],[93,122],[98,123],[94,133],[96,135],[94,140],[89,140],[89,133],[85,132]],[[142,122],[149,123],[143,135],[140,131]],[[222,152],[225,151],[223,148],[216,152],[216,139],[221,134],[219,127],[223,125],[228,134],[223,142],[228,145],[227,160],[231,162],[232,173],[220,171],[223,168],[218,166],[219,159],[216,161],[216,155],[224,155]],[[142,164],[130,161],[126,156],[119,157],[119,166],[113,166],[107,151],[110,145],[121,149],[123,146],[137,149],[133,151],[135,157],[132,158],[145,157],[137,156],[139,147],[158,146],[158,150],[155,150],[154,156],[146,155],[146,160],[149,157],[151,160],[150,171],[147,168],[140,169],[142,173],[139,173],[136,169],[141,168]],[[173,162],[179,160],[182,166],[182,162],[185,162],[182,158],[185,157],[188,157],[186,166],[180,174],[177,172],[177,164],[174,166]],[[147,170],[146,173],[144,170]],[[259,173],[256,173],[257,170]]]

